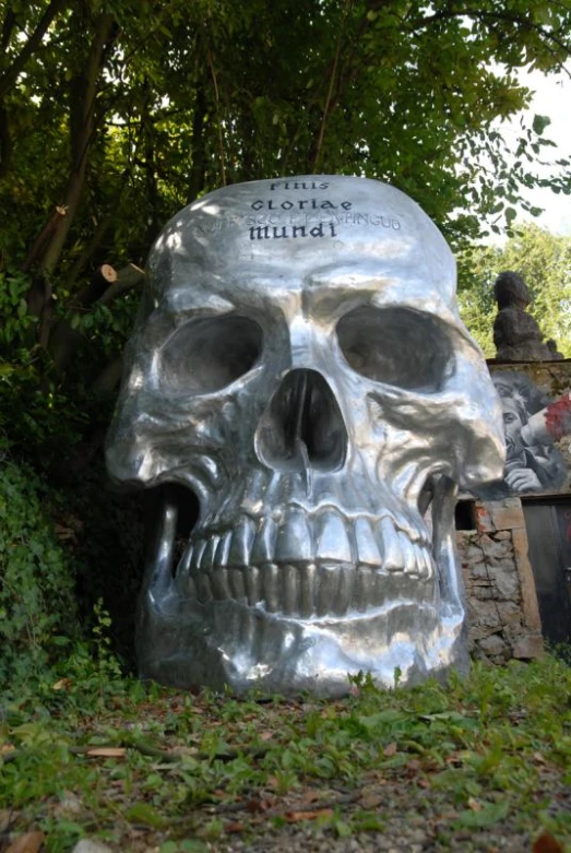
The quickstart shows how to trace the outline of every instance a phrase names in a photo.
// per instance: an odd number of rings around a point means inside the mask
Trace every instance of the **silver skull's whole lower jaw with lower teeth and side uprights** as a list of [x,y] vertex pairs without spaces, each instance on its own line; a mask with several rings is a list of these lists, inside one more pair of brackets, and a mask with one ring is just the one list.
[[171,574],[176,508],[167,501],[139,606],[140,674],[181,688],[341,696],[359,672],[386,687],[396,667],[408,685],[466,672],[453,506],[450,488],[433,501],[430,570],[426,542],[417,542],[419,559],[391,570],[386,560],[213,559],[201,589],[200,573]]

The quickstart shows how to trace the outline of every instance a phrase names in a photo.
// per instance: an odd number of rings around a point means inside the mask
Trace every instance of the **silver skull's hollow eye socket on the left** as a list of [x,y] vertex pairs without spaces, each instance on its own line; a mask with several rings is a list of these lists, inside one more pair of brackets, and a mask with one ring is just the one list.
[[175,393],[214,393],[251,370],[262,343],[261,328],[247,317],[190,320],[160,350],[160,383]]

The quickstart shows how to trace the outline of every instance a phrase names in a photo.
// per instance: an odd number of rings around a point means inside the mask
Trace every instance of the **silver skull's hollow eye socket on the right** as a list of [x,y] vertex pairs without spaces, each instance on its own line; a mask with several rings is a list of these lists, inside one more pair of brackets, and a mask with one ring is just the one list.
[[442,324],[408,308],[355,308],[338,321],[337,337],[354,370],[406,390],[438,390],[452,366]]

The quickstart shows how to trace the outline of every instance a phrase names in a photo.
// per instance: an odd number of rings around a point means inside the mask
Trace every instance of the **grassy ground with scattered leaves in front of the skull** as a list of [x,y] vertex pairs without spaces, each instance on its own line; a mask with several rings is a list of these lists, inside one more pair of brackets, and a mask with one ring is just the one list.
[[0,850],[25,832],[53,853],[267,850],[302,831],[571,851],[571,668],[554,656],[445,687],[359,677],[325,701],[181,694],[80,655],[0,714]]

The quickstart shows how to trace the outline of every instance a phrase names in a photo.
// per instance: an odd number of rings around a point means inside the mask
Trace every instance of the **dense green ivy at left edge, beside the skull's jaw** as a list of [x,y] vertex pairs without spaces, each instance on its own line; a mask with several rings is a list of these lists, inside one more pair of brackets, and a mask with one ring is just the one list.
[[28,465],[0,467],[0,692],[37,679],[78,637],[73,568]]

